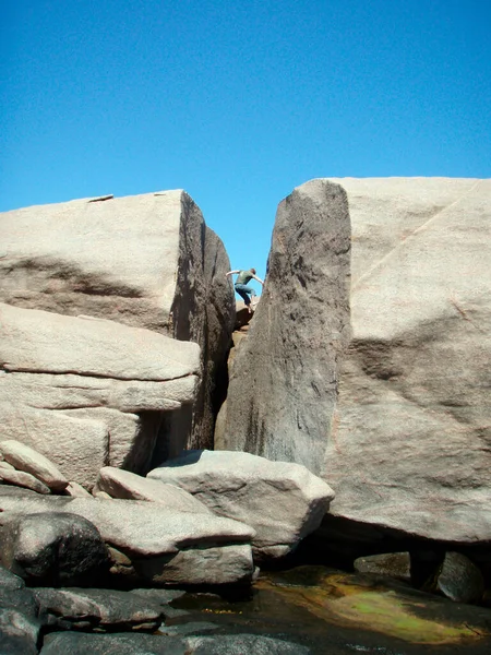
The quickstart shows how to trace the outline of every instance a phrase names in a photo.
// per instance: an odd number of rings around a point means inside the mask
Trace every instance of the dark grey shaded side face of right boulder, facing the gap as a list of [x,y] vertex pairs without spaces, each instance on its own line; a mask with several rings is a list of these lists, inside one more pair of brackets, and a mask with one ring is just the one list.
[[349,326],[346,192],[327,180],[279,206],[267,276],[235,358],[219,443],[323,471]]

